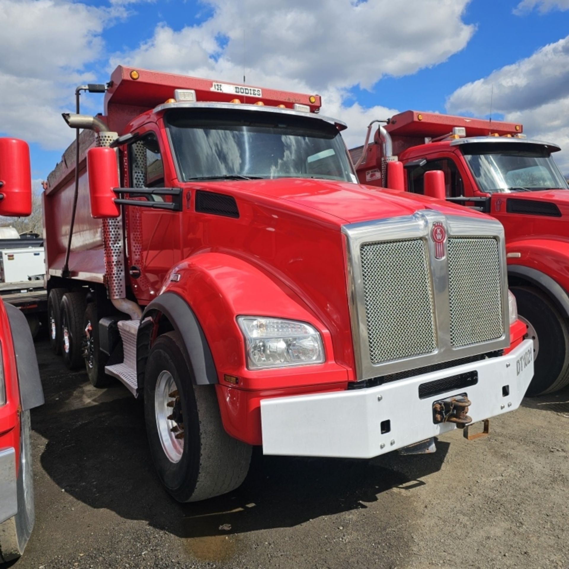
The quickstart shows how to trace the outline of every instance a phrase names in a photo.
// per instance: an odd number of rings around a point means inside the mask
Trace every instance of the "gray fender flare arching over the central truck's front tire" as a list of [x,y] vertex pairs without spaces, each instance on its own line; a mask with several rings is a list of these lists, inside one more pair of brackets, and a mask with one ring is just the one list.
[[217,384],[217,372],[204,331],[196,315],[185,300],[175,292],[164,292],[150,302],[142,313],[137,335],[138,393],[142,393],[146,361],[151,347],[156,322],[152,313],[160,312],[170,320],[184,343],[189,365],[192,366],[196,385]]

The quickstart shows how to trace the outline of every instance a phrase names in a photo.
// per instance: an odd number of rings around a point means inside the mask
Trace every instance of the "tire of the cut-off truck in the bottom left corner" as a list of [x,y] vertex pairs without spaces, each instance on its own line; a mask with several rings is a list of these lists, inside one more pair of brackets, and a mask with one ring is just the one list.
[[34,473],[32,472],[30,411],[20,417],[20,461],[18,467],[18,513],[0,523],[0,562],[17,559],[26,549],[34,528]]

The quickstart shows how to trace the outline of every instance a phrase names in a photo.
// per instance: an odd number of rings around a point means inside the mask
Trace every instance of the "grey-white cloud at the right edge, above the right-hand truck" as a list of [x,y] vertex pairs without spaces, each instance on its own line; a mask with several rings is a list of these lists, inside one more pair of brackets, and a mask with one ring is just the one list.
[[531,138],[556,142],[556,160],[569,171],[569,36],[506,65],[488,77],[461,86],[448,97],[450,113],[486,116],[493,89],[493,112],[521,122]]

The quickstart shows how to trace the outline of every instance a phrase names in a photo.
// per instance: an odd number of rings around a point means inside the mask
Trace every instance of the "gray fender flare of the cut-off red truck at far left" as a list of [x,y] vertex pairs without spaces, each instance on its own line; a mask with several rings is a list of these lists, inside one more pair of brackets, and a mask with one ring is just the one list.
[[11,304],[5,304],[6,314],[10,321],[18,386],[22,410],[27,411],[43,405],[43,387],[39,374],[38,359],[35,355],[34,340],[26,316]]

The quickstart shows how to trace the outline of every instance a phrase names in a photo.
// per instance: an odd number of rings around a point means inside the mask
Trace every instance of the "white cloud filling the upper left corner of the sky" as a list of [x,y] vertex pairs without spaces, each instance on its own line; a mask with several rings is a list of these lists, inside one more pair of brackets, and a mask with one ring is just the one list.
[[0,130],[46,149],[67,146],[60,113],[73,108],[75,86],[94,79],[85,64],[104,55],[101,34],[124,14],[69,0],[0,0]]

